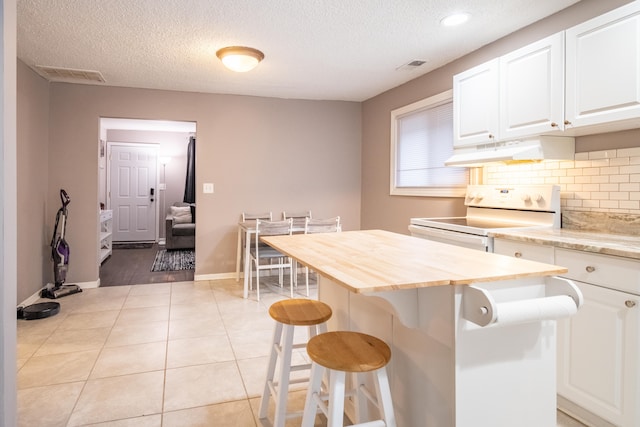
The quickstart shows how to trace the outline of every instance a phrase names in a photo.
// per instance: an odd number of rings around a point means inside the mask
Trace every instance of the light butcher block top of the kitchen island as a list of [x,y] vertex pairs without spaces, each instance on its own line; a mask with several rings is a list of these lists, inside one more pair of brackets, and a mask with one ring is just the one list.
[[469,285],[568,271],[383,230],[264,236],[261,240],[355,293]]

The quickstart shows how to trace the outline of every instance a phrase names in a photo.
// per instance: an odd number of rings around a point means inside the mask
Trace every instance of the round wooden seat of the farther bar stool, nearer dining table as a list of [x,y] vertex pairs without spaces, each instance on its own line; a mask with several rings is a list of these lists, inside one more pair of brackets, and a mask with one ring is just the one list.
[[272,304],[269,315],[285,325],[313,326],[331,318],[331,307],[315,300],[287,299]]

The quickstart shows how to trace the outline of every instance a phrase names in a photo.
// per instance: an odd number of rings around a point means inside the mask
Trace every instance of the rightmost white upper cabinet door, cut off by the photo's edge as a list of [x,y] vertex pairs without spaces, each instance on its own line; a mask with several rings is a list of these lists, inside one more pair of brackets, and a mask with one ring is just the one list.
[[567,30],[566,57],[572,126],[640,117],[640,2]]

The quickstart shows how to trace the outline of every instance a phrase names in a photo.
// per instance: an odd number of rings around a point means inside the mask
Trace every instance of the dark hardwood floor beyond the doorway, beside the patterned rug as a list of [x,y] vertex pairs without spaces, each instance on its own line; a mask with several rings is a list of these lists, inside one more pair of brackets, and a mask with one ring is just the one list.
[[[162,248],[162,247],[161,247]],[[193,270],[152,272],[158,245],[149,248],[113,248],[113,253],[100,266],[100,286],[141,285],[145,283],[183,282],[193,280]]]

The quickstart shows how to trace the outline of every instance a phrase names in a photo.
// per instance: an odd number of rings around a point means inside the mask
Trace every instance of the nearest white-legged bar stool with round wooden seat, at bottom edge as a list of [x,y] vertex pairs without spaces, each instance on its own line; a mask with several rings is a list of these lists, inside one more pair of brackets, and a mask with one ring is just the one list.
[[[313,361],[311,380],[304,405],[302,427],[313,427],[317,408],[327,416],[327,427],[343,425],[345,396],[353,396],[354,426],[395,427],[391,390],[386,366],[391,349],[384,341],[359,332],[337,331],[317,335],[307,343],[307,353]],[[329,370],[329,394],[321,393],[322,377]],[[345,375],[353,375],[353,389],[345,392]],[[364,386],[364,373],[374,376],[375,397]],[[380,412],[380,419],[365,421],[368,399]],[[325,401],[328,400],[328,407]]]

